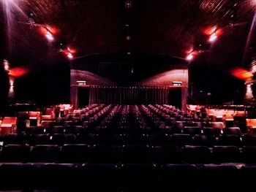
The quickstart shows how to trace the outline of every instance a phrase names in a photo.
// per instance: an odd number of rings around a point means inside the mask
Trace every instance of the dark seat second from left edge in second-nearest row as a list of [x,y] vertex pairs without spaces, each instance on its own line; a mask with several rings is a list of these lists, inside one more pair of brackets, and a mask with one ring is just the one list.
[[35,145],[31,151],[32,162],[58,162],[60,149],[58,145]]

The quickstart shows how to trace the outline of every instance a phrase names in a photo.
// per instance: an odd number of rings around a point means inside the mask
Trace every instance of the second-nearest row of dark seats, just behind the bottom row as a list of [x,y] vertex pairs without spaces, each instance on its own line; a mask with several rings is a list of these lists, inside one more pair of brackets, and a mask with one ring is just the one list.
[[256,147],[175,145],[5,145],[1,162],[92,164],[256,164]]

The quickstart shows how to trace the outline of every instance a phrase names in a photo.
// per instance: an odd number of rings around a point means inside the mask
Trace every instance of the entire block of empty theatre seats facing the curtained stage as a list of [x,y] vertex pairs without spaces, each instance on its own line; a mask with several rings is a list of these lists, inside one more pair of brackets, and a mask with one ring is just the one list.
[[1,134],[0,191],[254,191],[256,136],[239,127],[244,114],[208,112],[165,104],[21,112],[20,128]]

